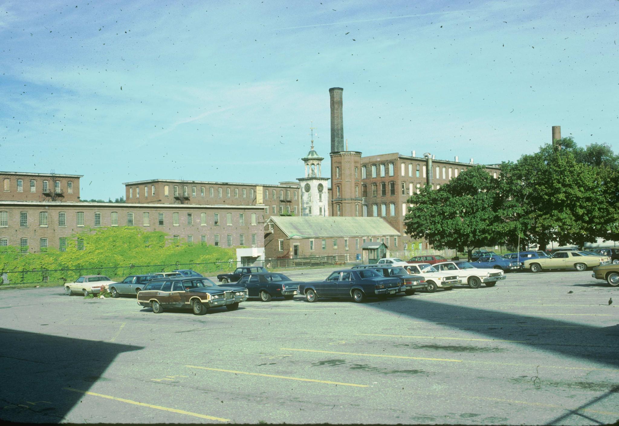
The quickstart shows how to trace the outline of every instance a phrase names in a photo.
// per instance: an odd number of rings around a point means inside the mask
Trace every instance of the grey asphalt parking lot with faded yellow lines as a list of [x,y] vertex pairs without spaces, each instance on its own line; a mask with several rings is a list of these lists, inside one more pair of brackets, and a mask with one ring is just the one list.
[[[332,269],[288,272],[326,277]],[[61,287],[0,292],[0,419],[569,424],[619,419],[617,288],[586,272],[155,315]]]

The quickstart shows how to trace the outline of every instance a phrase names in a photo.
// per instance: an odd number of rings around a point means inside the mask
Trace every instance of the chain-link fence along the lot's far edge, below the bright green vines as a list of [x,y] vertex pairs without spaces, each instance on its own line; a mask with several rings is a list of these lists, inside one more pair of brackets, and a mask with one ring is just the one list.
[[[267,269],[284,269],[293,267],[319,267],[339,265],[348,262],[348,254],[336,256],[313,256],[296,259],[266,259],[253,263],[254,266],[264,266]],[[232,272],[240,262],[234,259],[211,263],[173,263],[154,265],[129,266],[95,266],[95,267],[66,267],[63,269],[32,269],[30,271],[0,271],[0,285],[2,284],[36,284],[40,282],[74,282],[84,275],[103,275],[112,280],[121,280],[129,275],[149,274],[152,272],[170,272],[173,269],[193,269],[204,276],[213,276],[220,272]]]

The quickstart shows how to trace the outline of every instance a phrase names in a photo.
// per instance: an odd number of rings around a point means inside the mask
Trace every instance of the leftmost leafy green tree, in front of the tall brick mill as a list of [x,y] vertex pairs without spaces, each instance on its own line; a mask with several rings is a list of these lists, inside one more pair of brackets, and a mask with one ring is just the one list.
[[405,216],[406,232],[423,238],[434,248],[467,250],[495,243],[498,180],[483,166],[462,172],[439,189],[425,186],[408,202],[414,207]]

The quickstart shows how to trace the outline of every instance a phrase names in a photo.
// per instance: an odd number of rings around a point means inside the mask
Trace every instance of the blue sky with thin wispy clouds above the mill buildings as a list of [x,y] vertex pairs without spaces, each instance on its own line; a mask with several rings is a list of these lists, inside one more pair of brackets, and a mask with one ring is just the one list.
[[517,160],[552,139],[619,152],[619,1],[0,0],[0,170],[274,184],[344,137]]

